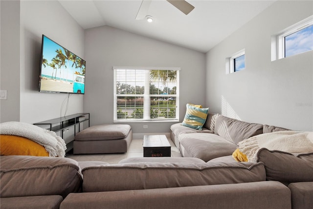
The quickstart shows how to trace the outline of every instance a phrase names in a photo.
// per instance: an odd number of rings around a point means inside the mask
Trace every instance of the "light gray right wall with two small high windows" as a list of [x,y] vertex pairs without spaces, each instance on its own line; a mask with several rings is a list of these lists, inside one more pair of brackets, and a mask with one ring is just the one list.
[[[313,130],[313,52],[271,61],[270,36],[313,14],[313,1],[277,1],[206,54],[206,104],[244,121]],[[246,49],[246,69],[225,58]]]

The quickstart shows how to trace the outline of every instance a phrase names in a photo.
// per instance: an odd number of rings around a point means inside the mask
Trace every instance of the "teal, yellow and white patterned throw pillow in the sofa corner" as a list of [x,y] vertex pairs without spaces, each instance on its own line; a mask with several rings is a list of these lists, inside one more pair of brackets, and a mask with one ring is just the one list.
[[181,125],[193,129],[202,130],[209,108],[201,108],[201,105],[196,104],[186,104],[186,107],[187,110],[185,118]]

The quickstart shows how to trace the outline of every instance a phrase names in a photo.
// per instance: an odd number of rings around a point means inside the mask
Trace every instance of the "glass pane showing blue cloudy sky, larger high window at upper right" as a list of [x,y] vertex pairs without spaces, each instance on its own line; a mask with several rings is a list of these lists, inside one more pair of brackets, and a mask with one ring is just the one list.
[[285,57],[313,50],[313,25],[285,37]]

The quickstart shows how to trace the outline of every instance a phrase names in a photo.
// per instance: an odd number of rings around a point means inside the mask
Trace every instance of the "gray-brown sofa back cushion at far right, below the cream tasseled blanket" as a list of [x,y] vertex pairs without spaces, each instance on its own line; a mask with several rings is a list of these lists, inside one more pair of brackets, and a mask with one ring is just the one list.
[[313,153],[294,156],[262,148],[257,153],[257,161],[264,162],[267,180],[286,184],[313,182]]

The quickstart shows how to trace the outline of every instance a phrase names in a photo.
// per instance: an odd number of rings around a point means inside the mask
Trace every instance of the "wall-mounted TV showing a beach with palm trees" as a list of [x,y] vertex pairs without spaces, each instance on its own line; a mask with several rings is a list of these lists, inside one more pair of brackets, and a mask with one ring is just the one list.
[[40,92],[85,93],[86,61],[43,35]]

